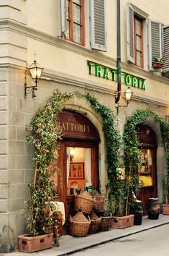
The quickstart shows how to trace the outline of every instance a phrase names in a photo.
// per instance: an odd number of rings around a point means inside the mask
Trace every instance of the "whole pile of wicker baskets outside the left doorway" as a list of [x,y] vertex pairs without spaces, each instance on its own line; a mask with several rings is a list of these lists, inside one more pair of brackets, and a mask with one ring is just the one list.
[[72,236],[81,237],[87,236],[88,233],[109,230],[110,218],[104,216],[104,197],[96,190],[91,194],[81,191],[79,195],[76,195],[75,211],[78,213],[73,218],[70,216],[69,219]]

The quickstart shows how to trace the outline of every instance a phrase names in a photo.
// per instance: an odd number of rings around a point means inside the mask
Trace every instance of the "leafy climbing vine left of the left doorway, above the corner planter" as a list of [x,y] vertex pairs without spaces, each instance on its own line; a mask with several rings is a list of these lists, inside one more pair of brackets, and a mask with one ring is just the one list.
[[60,93],[56,90],[52,97],[41,106],[30,124],[26,127],[29,133],[27,142],[35,149],[35,182],[29,184],[30,197],[25,202],[22,214],[27,219],[27,230],[30,236],[42,234],[45,231],[42,211],[55,190],[52,176],[57,169],[50,170],[50,165],[58,159],[56,150],[61,139],[62,129],[56,124],[58,114],[62,111],[63,103],[73,97],[72,93]]

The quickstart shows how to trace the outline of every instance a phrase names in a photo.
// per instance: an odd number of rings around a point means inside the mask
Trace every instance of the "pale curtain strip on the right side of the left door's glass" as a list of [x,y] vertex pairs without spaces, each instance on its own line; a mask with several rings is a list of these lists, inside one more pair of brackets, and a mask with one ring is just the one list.
[[91,183],[91,148],[85,148],[85,161],[84,161],[84,170],[85,170],[85,179],[86,182]]

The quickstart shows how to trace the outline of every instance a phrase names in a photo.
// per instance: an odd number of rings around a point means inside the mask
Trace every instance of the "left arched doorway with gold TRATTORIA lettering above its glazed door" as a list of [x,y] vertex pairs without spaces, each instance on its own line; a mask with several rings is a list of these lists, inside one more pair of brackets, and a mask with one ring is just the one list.
[[73,215],[76,192],[88,186],[99,189],[99,133],[86,116],[75,111],[62,111],[58,124],[63,127],[63,140],[58,150],[60,174],[54,181],[57,200],[65,204],[67,222]]

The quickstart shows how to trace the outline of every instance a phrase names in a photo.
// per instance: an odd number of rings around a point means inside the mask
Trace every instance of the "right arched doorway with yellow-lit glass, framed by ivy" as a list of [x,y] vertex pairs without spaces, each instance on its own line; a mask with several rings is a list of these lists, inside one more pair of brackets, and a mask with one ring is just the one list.
[[155,132],[147,125],[137,124],[137,137],[140,142],[142,166],[139,168],[140,192],[143,214],[147,214],[147,200],[157,197],[157,140]]

